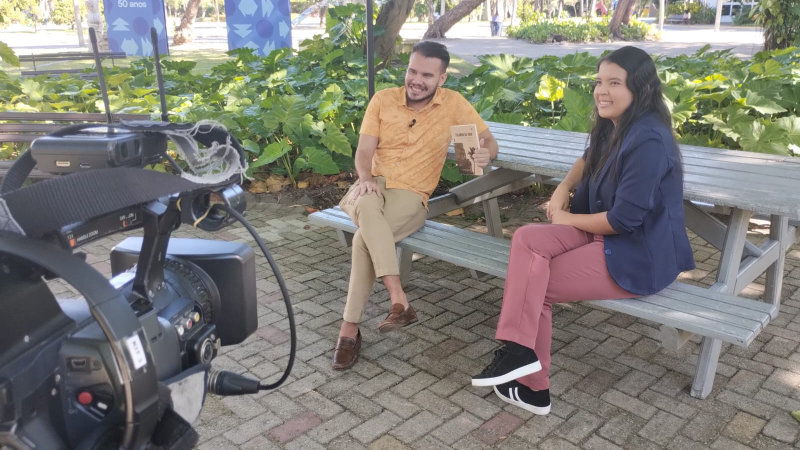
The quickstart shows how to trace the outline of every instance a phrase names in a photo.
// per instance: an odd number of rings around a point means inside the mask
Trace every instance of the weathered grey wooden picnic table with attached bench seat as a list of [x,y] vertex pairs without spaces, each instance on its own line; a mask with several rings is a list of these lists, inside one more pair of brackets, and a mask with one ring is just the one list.
[[[582,133],[489,125],[500,145],[493,162],[498,169],[431,199],[428,214],[432,218],[482,203],[489,235],[427,221],[397,244],[403,281],[415,252],[476,274],[505,277],[510,243],[502,239],[496,197],[565,176],[586,144]],[[798,232],[788,219],[800,218],[800,159],[693,146],[682,146],[682,151],[687,227],[721,250],[717,282],[710,289],[675,282],[647,297],[588,303],[662,324],[662,344],[672,350],[692,334],[702,336],[691,394],[705,398],[713,387],[722,342],[747,346],[777,317],[785,252]],[[728,224],[709,213],[711,205],[727,209]],[[757,213],[771,222],[769,238],[761,245],[747,241],[747,225]],[[356,230],[338,208],[311,214],[309,220],[335,228],[345,245]],[[764,272],[763,302],[737,296]]]

